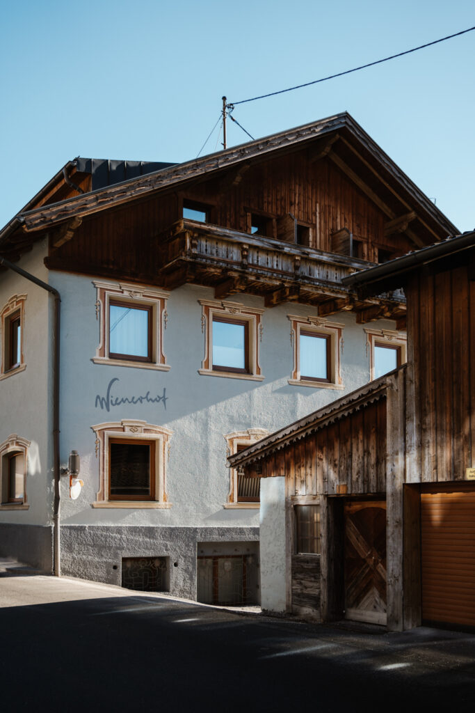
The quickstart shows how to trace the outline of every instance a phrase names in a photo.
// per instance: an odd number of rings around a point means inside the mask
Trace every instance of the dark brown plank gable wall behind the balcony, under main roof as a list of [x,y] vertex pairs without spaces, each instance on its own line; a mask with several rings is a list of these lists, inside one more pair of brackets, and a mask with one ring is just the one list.
[[343,227],[362,240],[362,257],[368,260],[377,260],[377,247],[397,252],[409,247],[401,235],[384,239],[385,215],[330,160],[310,163],[300,152],[254,165],[236,185],[224,174],[85,217],[73,240],[55,255],[65,267],[90,264],[111,269],[120,255],[125,275],[153,274],[158,267],[155,240],[181,217],[184,198],[207,202],[213,206],[216,225],[242,232],[249,229],[249,212],[276,219],[291,213],[311,227],[311,247],[319,250],[330,251],[331,234]]

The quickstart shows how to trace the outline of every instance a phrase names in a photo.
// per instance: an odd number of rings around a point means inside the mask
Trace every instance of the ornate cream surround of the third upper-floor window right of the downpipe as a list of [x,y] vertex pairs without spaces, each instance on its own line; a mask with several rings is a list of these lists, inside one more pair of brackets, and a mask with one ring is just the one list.
[[[288,314],[287,318],[291,322],[291,344],[293,348],[293,369],[288,383],[293,386],[311,386],[313,389],[343,389],[341,379],[341,358],[343,351],[343,328],[344,324],[338,322],[328,322],[321,317],[299,317],[295,314]],[[302,379],[300,371],[300,341],[301,334],[315,337],[325,337],[328,339],[328,379]]]

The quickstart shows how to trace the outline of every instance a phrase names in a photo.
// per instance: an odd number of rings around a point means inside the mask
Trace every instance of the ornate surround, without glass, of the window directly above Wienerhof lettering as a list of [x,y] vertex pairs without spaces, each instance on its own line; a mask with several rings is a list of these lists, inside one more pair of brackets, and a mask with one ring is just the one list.
[[[167,299],[169,292],[142,287],[125,282],[93,281],[97,290],[95,316],[99,321],[99,345],[95,350],[94,364],[113,366],[133,366],[137,369],[157,369],[169,371],[170,366],[163,351],[163,331],[167,329]],[[124,304],[129,307],[150,309],[150,359],[140,359],[133,355],[110,356],[110,304]],[[123,357],[123,358],[122,358]]]

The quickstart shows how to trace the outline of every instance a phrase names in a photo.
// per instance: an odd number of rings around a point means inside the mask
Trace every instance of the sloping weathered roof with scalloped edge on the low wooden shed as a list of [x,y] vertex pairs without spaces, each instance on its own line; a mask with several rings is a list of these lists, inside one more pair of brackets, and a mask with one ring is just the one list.
[[394,375],[397,371],[406,369],[406,366],[406,364],[402,364],[398,369],[380,376],[379,379],[370,381],[365,386],[360,386],[359,389],[355,389],[347,396],[342,396],[341,399],[332,401],[328,406],[323,406],[322,409],[313,411],[308,416],[304,416],[303,419],[298,419],[293,424],[285,426],[279,431],[274,431],[273,434],[253,443],[249,448],[239,451],[239,453],[234,453],[233,456],[228,457],[229,466],[236,468],[244,466],[246,463],[259,461],[270,453],[284,448],[288,443],[298,441],[314,431],[320,431],[328,424],[345,418],[345,416],[353,413],[353,411],[358,411],[366,404],[372,404],[373,401],[384,399],[387,389],[394,381]]

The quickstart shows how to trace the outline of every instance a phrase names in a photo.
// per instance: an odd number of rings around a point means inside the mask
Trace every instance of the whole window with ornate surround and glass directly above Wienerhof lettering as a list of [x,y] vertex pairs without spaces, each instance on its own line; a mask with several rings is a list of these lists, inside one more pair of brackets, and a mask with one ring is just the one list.
[[167,371],[163,331],[167,328],[167,292],[117,282],[93,282],[100,343],[95,364]]

